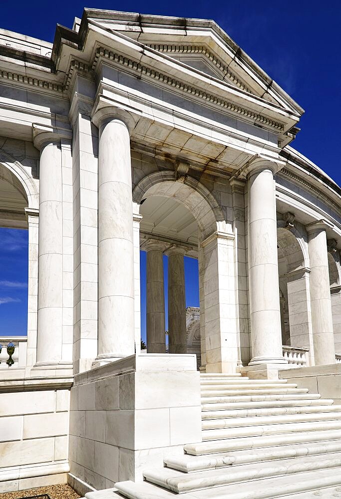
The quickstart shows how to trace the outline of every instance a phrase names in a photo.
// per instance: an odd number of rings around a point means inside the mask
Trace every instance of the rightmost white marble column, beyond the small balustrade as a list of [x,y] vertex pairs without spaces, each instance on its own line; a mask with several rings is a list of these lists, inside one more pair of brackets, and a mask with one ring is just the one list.
[[306,226],[310,259],[310,299],[312,307],[315,365],[335,364],[331,292],[329,283],[326,229],[320,220]]

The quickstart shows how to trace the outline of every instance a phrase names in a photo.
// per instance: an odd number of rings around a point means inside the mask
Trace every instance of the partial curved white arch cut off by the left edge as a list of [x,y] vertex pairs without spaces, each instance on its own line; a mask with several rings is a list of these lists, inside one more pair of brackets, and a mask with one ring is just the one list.
[[26,198],[27,207],[39,208],[37,186],[32,176],[27,173],[21,163],[0,149],[0,165],[3,167],[0,176],[10,182]]

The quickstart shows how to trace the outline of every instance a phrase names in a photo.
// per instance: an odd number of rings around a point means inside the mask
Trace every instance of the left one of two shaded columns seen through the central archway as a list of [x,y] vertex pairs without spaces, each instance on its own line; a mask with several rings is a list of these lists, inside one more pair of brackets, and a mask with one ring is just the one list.
[[166,353],[164,245],[149,241],[147,251],[147,353]]

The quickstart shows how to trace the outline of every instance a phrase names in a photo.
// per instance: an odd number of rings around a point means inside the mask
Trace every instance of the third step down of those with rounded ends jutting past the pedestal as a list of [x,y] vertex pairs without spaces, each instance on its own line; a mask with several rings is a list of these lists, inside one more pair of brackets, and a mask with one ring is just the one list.
[[175,492],[191,493],[214,487],[240,484],[252,480],[282,477],[296,473],[305,473],[321,469],[341,467],[341,452],[327,457],[305,456],[298,459],[283,459],[272,463],[255,463],[244,466],[232,466],[198,473],[183,473],[171,468],[156,468],[143,472],[147,482]]

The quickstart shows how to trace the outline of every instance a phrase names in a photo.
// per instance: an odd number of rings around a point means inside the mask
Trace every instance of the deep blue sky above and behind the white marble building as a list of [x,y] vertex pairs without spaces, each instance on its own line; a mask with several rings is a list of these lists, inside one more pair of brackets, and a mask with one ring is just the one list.
[[[292,145],[341,184],[340,1],[89,0],[84,4],[79,0],[2,0],[0,27],[52,41],[56,23],[72,27],[74,16],[81,17],[84,6],[214,19],[306,110],[299,124],[302,130]],[[6,256],[2,244],[0,248],[0,281],[9,280],[7,274],[11,273],[13,279],[24,282],[25,251],[15,250]],[[5,267],[3,257],[7,258]],[[15,268],[11,268],[10,261],[15,263]],[[187,274],[189,289],[197,282],[197,272],[192,268],[187,269]],[[194,291],[197,296],[197,288]],[[4,334],[7,327],[7,314],[3,309],[17,314],[21,304],[23,310],[24,299],[20,293],[22,290],[16,288],[14,296],[8,288],[0,288],[0,298],[17,296],[21,299],[21,302],[0,305],[0,334]],[[196,300],[187,296],[187,305],[197,305]],[[12,316],[12,321],[20,320]],[[142,325],[144,320],[142,318]],[[22,325],[15,327],[22,328]]]

